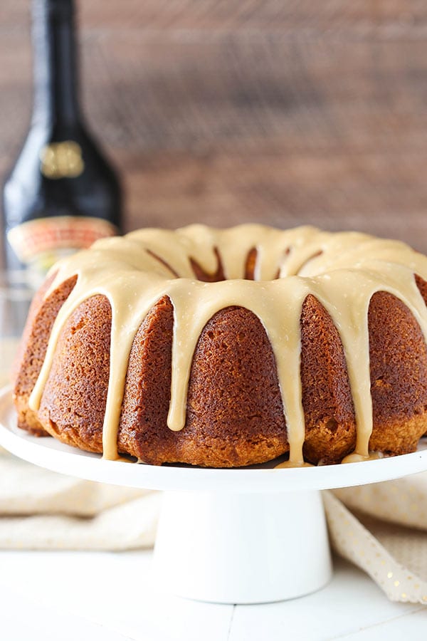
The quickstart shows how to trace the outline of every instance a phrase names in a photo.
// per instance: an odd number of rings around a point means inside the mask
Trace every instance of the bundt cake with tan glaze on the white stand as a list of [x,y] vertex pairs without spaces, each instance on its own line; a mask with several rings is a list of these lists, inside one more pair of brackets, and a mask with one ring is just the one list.
[[427,429],[426,281],[427,258],[399,241],[307,226],[102,239],[33,301],[19,427],[156,465],[412,452]]

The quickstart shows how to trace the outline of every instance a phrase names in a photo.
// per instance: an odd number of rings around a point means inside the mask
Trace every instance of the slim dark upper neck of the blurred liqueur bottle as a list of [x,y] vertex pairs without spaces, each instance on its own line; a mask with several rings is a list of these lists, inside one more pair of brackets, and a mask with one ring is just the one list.
[[74,0],[33,0],[33,123],[76,125],[78,74]]

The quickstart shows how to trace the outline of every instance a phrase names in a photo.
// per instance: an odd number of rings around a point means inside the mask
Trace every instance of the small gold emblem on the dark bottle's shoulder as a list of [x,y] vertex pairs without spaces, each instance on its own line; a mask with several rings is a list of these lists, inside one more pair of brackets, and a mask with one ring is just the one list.
[[46,178],[76,178],[85,168],[80,145],[73,140],[51,142],[40,152],[41,173]]

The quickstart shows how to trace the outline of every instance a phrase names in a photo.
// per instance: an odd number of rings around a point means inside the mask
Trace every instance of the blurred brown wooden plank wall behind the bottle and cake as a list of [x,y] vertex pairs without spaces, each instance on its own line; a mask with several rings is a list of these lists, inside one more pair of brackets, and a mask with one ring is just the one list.
[[[427,251],[426,0],[78,9],[84,110],[126,229],[311,223]],[[30,112],[29,2],[1,0],[1,176]]]

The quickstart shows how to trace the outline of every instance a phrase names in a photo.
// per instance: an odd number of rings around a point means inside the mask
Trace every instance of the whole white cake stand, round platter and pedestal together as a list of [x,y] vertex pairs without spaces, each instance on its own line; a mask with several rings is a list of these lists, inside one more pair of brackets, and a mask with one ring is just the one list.
[[16,427],[10,388],[0,391],[0,445],[60,474],[163,490],[154,547],[159,587],[214,603],[266,603],[322,588],[332,576],[320,490],[427,470],[427,442],[399,457],[324,467],[241,469],[105,461]]

